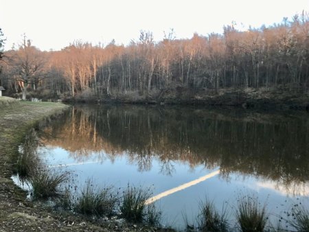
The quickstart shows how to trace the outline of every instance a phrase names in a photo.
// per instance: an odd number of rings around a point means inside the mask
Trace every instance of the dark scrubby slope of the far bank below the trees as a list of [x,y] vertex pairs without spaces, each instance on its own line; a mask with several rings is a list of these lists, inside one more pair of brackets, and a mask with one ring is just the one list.
[[205,106],[242,106],[243,108],[275,108],[309,110],[309,91],[288,87],[266,89],[190,90],[182,86],[153,90],[148,93],[111,93],[111,95],[77,94],[67,102],[109,102],[128,104],[192,104]]

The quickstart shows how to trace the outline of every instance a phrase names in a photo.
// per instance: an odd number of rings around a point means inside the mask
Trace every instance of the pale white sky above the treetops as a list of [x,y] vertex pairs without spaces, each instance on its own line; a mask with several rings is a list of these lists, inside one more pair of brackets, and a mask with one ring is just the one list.
[[155,40],[170,28],[176,38],[222,34],[232,21],[246,30],[291,19],[302,10],[309,11],[309,0],[0,0],[0,28],[5,49],[21,44],[25,33],[48,51],[73,40],[106,45],[114,38],[128,45],[140,30],[149,30]]

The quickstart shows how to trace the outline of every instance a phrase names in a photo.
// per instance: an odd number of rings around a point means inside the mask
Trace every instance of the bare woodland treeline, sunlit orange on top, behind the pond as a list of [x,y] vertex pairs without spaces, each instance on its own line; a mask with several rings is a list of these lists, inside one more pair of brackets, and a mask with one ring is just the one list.
[[155,43],[141,31],[127,46],[75,41],[60,51],[40,51],[24,39],[4,51],[1,82],[23,98],[159,98],[166,91],[218,93],[220,89],[309,89],[309,14],[245,32],[176,39],[171,30]]

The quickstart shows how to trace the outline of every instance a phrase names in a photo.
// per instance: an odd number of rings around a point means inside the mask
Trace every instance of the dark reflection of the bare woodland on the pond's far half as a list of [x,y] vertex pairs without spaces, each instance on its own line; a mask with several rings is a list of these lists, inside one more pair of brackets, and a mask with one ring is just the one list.
[[[268,187],[308,195],[309,119],[304,115],[248,113],[192,107],[74,106],[45,128],[47,146],[76,163],[126,156],[139,172],[158,161],[172,176],[175,163],[254,176]],[[95,156],[95,157],[94,157]],[[74,162],[75,163],[75,162]],[[266,186],[266,185],[265,185]]]

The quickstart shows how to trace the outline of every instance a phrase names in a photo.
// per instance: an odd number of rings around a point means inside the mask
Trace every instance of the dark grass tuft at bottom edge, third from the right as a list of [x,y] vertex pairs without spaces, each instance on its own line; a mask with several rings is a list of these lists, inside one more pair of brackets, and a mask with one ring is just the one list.
[[214,202],[207,199],[200,203],[200,214],[197,221],[199,231],[225,232],[229,230],[227,209],[223,207],[222,213],[219,213]]

